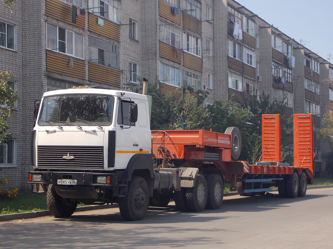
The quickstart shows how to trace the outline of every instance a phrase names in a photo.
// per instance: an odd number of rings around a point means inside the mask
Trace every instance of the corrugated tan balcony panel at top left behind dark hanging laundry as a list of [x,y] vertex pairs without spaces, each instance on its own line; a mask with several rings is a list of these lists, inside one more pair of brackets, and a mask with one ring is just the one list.
[[45,12],[49,17],[83,29],[85,28],[86,15],[76,17],[76,23],[72,22],[72,5],[66,4],[59,0],[46,0]]

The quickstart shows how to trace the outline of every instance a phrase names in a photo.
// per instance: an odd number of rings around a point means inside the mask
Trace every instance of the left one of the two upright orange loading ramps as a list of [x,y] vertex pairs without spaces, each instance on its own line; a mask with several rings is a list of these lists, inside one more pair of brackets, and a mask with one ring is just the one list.
[[262,161],[280,162],[281,124],[279,114],[262,115]]

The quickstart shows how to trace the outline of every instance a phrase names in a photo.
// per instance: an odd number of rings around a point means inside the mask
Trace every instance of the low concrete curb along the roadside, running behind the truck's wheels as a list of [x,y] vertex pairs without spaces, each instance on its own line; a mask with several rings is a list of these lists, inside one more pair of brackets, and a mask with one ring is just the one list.
[[[323,185],[323,186],[308,186],[307,189],[324,189],[324,188],[333,188],[333,185]],[[269,192],[277,192],[277,189],[273,189]],[[238,195],[238,192],[231,192],[225,193],[224,196],[235,196]],[[104,205],[94,205],[94,206],[84,206],[84,207],[77,207],[75,212],[83,212],[83,211],[90,211],[90,210],[97,210],[97,209],[106,209],[106,208],[117,208],[118,203],[115,204],[104,204]],[[3,214],[0,215],[0,222],[1,221],[11,221],[15,219],[31,219],[37,218],[42,216],[50,216],[51,213],[46,211],[36,211],[36,212],[26,212],[26,213],[12,213],[12,214]]]

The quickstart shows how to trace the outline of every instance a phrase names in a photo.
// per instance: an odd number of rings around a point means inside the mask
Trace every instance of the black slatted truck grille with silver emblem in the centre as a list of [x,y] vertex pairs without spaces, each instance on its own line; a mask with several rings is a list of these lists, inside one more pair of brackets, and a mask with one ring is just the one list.
[[103,168],[103,146],[38,146],[37,165]]

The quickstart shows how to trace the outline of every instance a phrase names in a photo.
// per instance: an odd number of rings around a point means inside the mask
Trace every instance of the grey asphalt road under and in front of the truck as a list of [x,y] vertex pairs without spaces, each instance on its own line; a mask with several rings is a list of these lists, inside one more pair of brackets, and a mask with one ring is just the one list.
[[0,224],[0,248],[332,248],[333,188],[305,197],[225,197],[201,213],[150,208],[125,222],[118,208]]

